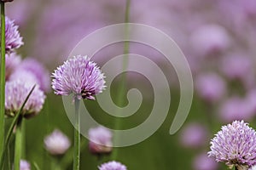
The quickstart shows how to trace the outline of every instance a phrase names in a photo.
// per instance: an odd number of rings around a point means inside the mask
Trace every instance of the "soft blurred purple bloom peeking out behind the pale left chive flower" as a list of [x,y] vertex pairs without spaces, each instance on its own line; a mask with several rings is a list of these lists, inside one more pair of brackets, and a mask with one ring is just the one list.
[[24,59],[18,70],[25,70],[32,72],[34,76],[37,78],[38,85],[40,89],[42,89],[44,92],[49,92],[49,84],[50,84],[50,78],[49,78],[49,71],[47,71],[44,68],[44,65],[38,62],[37,59]]

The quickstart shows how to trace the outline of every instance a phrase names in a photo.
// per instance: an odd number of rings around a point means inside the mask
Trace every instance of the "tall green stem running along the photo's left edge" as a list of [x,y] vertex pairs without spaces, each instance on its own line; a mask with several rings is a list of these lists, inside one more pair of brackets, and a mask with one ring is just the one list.
[[4,99],[5,99],[5,10],[1,2],[1,75],[0,75],[0,150],[4,143]]

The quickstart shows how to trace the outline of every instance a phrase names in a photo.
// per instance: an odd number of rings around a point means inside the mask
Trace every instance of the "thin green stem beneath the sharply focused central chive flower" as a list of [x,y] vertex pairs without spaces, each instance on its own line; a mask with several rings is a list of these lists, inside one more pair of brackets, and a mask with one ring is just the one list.
[[73,170],[79,170],[79,162],[80,162],[80,114],[79,114],[79,99],[75,98]]

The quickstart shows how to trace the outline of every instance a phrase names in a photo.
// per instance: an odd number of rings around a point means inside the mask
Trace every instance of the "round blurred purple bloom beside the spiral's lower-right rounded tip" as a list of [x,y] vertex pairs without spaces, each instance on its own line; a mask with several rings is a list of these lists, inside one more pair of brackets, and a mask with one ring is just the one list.
[[207,129],[199,123],[190,123],[181,133],[181,142],[184,146],[195,148],[206,144]]

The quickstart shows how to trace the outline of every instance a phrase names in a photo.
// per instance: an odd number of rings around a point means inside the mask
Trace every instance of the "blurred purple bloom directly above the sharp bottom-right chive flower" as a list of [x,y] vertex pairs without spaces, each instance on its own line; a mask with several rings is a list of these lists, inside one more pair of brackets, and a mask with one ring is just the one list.
[[219,116],[224,122],[234,120],[250,120],[253,117],[253,107],[247,99],[231,97],[219,108]]

